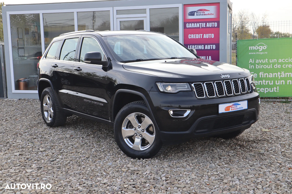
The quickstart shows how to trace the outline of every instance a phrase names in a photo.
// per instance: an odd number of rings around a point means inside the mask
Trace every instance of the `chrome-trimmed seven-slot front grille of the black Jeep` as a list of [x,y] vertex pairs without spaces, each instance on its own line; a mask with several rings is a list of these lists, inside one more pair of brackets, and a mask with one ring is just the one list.
[[204,97],[224,97],[245,94],[251,91],[248,78],[225,81],[207,81],[193,83],[193,90],[197,98]]

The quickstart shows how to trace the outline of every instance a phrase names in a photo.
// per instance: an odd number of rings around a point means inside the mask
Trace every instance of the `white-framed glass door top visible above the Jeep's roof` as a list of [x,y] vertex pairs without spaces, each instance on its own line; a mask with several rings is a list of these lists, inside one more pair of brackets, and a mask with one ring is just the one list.
[[146,30],[146,17],[117,18],[117,30]]

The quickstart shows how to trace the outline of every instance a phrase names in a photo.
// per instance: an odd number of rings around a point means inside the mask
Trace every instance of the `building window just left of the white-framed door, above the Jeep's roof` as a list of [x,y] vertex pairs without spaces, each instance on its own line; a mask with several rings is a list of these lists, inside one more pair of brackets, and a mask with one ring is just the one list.
[[110,11],[78,12],[78,31],[110,30]]

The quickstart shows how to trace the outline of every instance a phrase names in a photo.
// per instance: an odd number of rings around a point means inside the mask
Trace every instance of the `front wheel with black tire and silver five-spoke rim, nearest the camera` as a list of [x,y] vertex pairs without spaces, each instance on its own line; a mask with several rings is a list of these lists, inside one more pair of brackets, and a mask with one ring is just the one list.
[[114,137],[120,149],[134,159],[159,156],[165,148],[144,101],[131,102],[119,111],[114,121]]

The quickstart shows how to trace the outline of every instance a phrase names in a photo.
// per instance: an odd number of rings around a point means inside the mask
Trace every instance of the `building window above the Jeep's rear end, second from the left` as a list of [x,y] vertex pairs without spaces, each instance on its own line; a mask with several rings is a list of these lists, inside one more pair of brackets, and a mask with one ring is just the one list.
[[74,31],[74,13],[43,14],[45,49],[53,38]]

